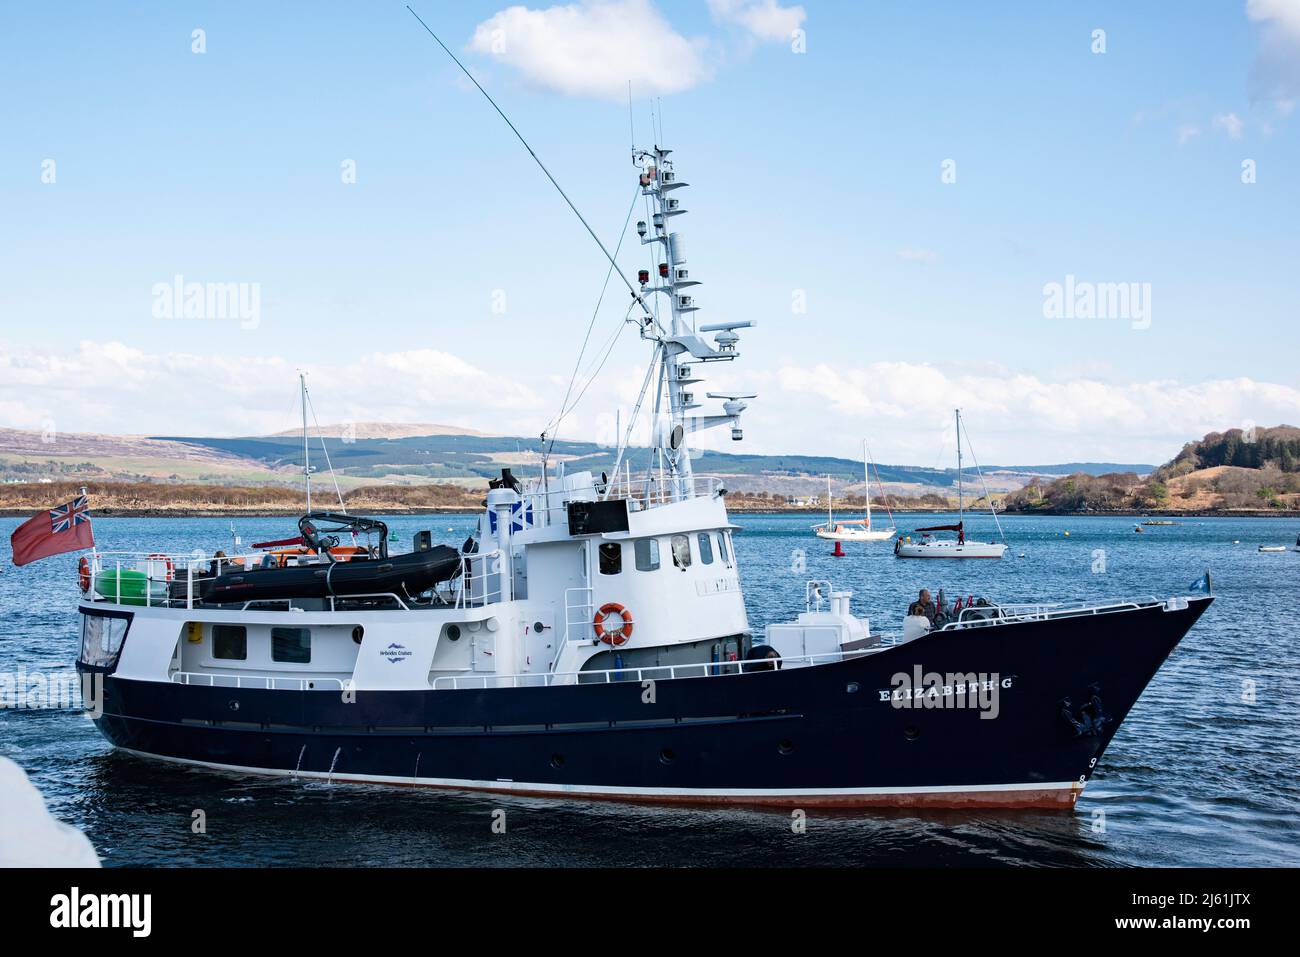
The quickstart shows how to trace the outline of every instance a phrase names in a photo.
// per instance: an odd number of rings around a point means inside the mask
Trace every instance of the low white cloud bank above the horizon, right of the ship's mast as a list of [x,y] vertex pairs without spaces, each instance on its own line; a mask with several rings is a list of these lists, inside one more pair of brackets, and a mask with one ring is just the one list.
[[[1184,442],[1247,421],[1300,424],[1300,389],[1251,378],[1204,382],[1045,380],[927,363],[789,364],[763,378],[748,434],[764,451],[852,455],[866,434],[881,462],[948,465],[962,408],[980,460],[998,464],[1161,463]],[[810,429],[810,424],[816,425]],[[819,446],[814,445],[823,437]],[[835,447],[827,443],[841,441]],[[810,447],[814,446],[814,447]]]

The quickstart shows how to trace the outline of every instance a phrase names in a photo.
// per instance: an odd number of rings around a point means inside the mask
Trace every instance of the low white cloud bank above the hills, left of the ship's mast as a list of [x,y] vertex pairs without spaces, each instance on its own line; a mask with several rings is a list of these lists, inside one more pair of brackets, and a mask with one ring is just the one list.
[[[432,348],[308,365],[321,424],[442,423],[528,434],[549,402],[517,377]],[[292,428],[296,367],[285,359],[146,352],[81,342],[69,352],[0,343],[0,425],[60,432],[259,434]],[[538,428],[541,424],[538,421]]]

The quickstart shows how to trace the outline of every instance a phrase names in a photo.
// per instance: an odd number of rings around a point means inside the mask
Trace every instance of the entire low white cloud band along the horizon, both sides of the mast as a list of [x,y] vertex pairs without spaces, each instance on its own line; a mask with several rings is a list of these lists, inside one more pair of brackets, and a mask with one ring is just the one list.
[[[520,382],[428,348],[372,352],[337,365],[313,364],[308,372],[321,424],[442,423],[534,436],[562,395],[547,376]],[[621,406],[627,425],[644,372],[634,364],[606,371],[601,381],[618,385],[589,395],[566,420],[562,437],[612,441],[615,410]],[[1300,425],[1300,389],[1244,377],[1113,384],[1086,371],[1044,378],[996,365],[789,363],[767,371],[719,369],[708,386],[753,390],[759,398],[745,412],[744,443],[715,429],[699,433],[697,446],[852,458],[866,436],[880,462],[932,467],[952,464],[957,407],[985,464],[1160,463],[1206,432],[1248,421]],[[0,426],[265,434],[295,428],[296,389],[296,367],[278,358],[148,352],[90,341],[53,352],[0,342]],[[703,411],[714,411],[712,404]],[[637,433],[645,441],[645,423]]]

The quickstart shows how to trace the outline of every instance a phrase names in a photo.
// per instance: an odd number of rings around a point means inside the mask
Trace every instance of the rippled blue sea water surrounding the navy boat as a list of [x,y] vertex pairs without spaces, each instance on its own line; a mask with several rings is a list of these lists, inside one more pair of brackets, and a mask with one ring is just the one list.
[[[900,627],[922,585],[949,598],[1104,599],[1184,593],[1206,570],[1218,601],[1161,668],[1072,814],[1041,811],[684,810],[473,796],[320,780],[242,778],[113,752],[75,710],[0,709],[0,754],[108,865],[1178,865],[1300,863],[1300,553],[1295,519],[1008,518],[1002,562],[902,562],[888,544],[831,544],[815,516],[736,516],[751,623],[802,610],[803,581],[831,577],[878,631]],[[907,516],[900,528],[944,516]],[[987,521],[987,520],[985,520]],[[9,564],[18,524],[0,519],[0,672],[66,672],[75,653],[75,555]],[[239,520],[243,541],[287,519]],[[395,518],[459,544],[465,516]],[[225,519],[95,519],[101,547],[230,550]],[[976,537],[992,532],[979,519]],[[1069,532],[1069,537],[1065,536]],[[1239,544],[1234,544],[1236,540]],[[802,550],[802,553],[800,551]],[[1024,558],[1018,558],[1020,553]],[[1243,700],[1254,685],[1254,703]],[[493,830],[504,811],[504,833]],[[203,811],[205,833],[194,833]],[[499,830],[499,828],[498,828]]]

